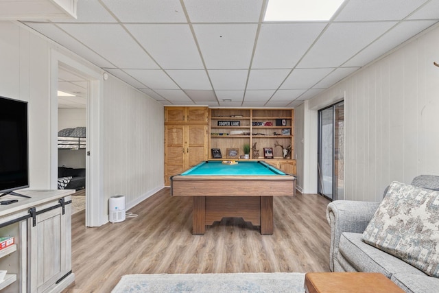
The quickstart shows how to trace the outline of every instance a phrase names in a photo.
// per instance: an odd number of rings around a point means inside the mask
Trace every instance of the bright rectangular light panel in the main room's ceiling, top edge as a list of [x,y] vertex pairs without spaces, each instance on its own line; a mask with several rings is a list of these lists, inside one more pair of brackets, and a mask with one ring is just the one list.
[[268,0],[264,21],[329,21],[344,0]]

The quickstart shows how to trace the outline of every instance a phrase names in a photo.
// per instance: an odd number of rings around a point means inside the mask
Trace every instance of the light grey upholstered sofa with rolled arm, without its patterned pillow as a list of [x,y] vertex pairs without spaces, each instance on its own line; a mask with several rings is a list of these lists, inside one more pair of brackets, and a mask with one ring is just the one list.
[[[406,185],[406,187],[416,188],[418,192],[422,191],[418,187],[429,189],[428,193],[437,196],[437,193],[431,192],[430,189],[439,191],[439,176],[417,176],[411,185]],[[384,196],[388,194],[388,189],[385,190]],[[437,201],[436,198],[436,204],[438,204]],[[406,210],[410,209],[410,204],[405,205]],[[374,217],[377,217],[375,213],[378,213],[378,210],[382,211],[382,209],[383,204],[380,205],[380,202],[335,200],[328,204],[327,220],[331,226],[331,270],[333,272],[380,272],[399,285],[405,292],[439,292],[437,270],[436,277],[430,277],[418,267],[385,252],[385,249],[366,244],[364,241],[365,230],[370,230],[372,225],[369,223],[375,221]],[[435,209],[438,211],[437,207]],[[437,215],[436,212],[435,214]],[[382,216],[383,213],[381,213]],[[388,218],[392,218],[392,216],[394,215],[385,215]],[[436,228],[438,225],[438,222],[433,223]],[[438,239],[437,232],[435,235]],[[411,244],[413,243],[416,242],[411,242]]]

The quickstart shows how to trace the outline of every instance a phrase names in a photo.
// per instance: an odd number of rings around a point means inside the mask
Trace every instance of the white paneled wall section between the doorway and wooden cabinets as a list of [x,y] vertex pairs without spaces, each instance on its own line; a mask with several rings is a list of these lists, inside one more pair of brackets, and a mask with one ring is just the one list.
[[163,188],[163,105],[112,76],[103,102],[104,194],[128,209]]

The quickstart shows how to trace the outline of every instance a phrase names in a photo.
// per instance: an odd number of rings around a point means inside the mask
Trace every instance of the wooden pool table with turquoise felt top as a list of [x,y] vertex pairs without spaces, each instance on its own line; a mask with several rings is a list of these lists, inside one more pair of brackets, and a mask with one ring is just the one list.
[[222,218],[243,218],[273,233],[273,196],[294,196],[296,177],[264,161],[203,161],[171,177],[171,196],[193,196],[192,234]]

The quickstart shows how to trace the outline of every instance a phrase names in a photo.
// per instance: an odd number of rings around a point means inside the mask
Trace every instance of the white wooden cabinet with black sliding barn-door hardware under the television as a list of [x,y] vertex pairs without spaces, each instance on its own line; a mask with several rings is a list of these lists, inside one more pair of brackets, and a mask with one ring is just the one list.
[[[31,198],[0,206],[0,235],[15,244],[0,250],[0,270],[12,279],[3,292],[61,292],[71,272],[71,196],[74,191],[21,191]],[[3,256],[3,257],[2,257]]]

